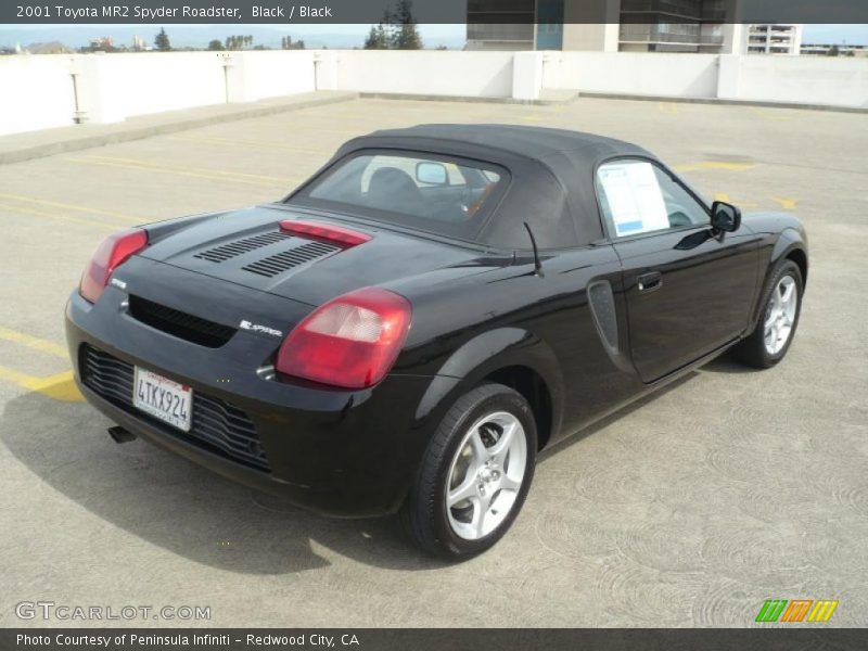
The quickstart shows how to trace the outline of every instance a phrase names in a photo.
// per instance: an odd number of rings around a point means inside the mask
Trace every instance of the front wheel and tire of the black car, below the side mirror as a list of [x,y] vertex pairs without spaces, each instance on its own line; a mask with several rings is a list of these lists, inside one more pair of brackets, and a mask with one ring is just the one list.
[[[781,307],[782,288],[792,286],[794,292],[794,305],[786,309]],[[741,343],[732,348],[732,357],[745,366],[757,369],[768,369],[778,363],[787,355],[795,336],[795,330],[799,326],[799,317],[802,311],[802,295],[804,294],[804,284],[802,280],[802,271],[794,261],[784,259],[778,264],[771,271],[763,289],[763,299],[761,305],[760,318],[756,322],[756,328],[753,332]],[[775,299],[778,303],[775,304]],[[784,311],[780,311],[783,309]],[[776,323],[787,327],[786,337],[774,337],[768,328],[768,321],[773,317],[771,312],[778,311],[779,316]],[[789,311],[789,316],[787,315]],[[783,315],[783,316],[780,316]],[[774,329],[775,333],[781,331],[777,328]],[[774,344],[769,340],[775,340]]]

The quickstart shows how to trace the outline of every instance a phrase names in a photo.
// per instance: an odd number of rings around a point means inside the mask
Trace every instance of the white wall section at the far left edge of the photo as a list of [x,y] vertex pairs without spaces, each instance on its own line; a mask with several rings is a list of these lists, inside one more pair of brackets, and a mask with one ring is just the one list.
[[0,56],[0,135],[74,124],[72,58]]

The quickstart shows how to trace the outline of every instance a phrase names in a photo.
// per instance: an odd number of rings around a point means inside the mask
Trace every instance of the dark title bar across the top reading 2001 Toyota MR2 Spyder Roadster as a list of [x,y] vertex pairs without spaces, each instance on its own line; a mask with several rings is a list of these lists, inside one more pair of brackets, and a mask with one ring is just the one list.
[[[419,24],[868,24],[865,0],[416,0]],[[0,0],[2,24],[375,24],[397,0]]]

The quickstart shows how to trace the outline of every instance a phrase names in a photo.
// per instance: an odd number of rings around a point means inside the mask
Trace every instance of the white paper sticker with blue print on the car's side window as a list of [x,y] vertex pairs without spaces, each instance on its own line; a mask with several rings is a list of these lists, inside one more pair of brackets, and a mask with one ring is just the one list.
[[651,163],[609,163],[599,170],[615,235],[635,235],[669,228],[666,204]]

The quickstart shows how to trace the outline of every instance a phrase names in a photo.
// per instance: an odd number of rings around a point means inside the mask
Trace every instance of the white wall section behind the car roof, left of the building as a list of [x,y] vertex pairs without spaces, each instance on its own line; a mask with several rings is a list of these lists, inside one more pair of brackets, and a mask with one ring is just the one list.
[[342,50],[336,90],[512,95],[512,52]]

